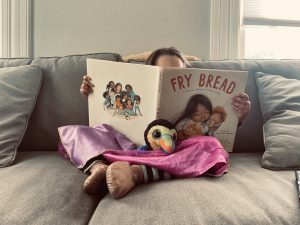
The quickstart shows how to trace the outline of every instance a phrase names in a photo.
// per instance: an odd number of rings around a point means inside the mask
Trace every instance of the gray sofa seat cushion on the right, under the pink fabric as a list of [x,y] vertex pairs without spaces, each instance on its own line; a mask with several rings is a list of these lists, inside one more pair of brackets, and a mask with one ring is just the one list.
[[232,153],[220,178],[141,185],[122,199],[99,203],[90,225],[300,224],[293,171],[261,168],[261,154]]

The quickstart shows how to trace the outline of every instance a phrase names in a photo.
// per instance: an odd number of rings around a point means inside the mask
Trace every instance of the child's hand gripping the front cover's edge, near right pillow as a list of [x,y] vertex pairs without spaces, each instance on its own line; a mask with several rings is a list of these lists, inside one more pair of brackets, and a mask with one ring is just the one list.
[[239,117],[240,124],[246,118],[251,109],[249,96],[245,93],[237,94],[232,97],[231,105]]

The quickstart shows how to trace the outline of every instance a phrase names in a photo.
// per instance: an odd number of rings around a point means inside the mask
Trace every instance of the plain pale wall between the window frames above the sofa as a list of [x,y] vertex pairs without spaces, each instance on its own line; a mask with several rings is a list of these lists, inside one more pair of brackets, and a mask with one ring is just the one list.
[[209,0],[35,0],[34,57],[175,46],[209,56]]

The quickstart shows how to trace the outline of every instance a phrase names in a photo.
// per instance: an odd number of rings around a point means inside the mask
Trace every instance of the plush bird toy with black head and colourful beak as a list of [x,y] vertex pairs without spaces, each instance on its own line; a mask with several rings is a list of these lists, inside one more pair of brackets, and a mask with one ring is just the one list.
[[177,131],[171,122],[158,119],[151,122],[144,132],[146,145],[140,150],[162,150],[166,154],[171,154],[175,150],[177,141]]

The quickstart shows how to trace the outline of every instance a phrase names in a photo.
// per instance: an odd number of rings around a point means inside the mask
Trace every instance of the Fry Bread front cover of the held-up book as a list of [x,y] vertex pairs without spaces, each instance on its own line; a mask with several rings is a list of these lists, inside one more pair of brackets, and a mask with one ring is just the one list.
[[231,152],[238,124],[231,98],[244,92],[248,72],[164,68],[159,118],[175,123],[178,138],[214,136]]

